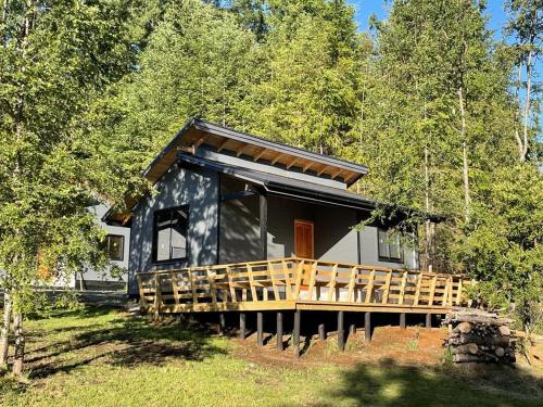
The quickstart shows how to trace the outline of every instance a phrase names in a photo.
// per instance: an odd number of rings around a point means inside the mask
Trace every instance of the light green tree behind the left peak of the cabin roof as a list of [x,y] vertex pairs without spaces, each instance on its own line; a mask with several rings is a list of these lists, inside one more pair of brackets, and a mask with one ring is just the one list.
[[258,44],[230,12],[198,0],[169,2],[138,69],[102,102],[100,132],[115,139],[127,174],[142,167],[193,116],[244,128],[243,99],[258,77]]

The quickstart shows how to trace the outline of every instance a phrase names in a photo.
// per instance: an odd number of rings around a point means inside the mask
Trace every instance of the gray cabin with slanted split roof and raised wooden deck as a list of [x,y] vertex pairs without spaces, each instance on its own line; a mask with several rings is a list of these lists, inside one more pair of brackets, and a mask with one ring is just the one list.
[[[390,231],[413,209],[350,191],[367,173],[191,119],[144,170],[154,193],[104,216],[130,228],[128,293],[156,315],[212,313],[222,326],[239,316],[242,335],[253,317],[261,335],[264,313],[277,314],[281,332],[283,314],[292,317],[294,338],[302,310],[337,311],[341,325],[343,313],[363,313],[365,326],[371,313],[431,323],[464,301],[467,282],[418,272],[416,231]],[[387,220],[358,227],[376,208]]]

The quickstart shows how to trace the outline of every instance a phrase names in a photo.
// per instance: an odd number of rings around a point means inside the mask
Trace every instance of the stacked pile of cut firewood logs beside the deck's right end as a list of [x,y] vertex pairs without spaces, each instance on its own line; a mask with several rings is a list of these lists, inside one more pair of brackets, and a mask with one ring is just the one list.
[[517,338],[512,320],[480,309],[458,308],[447,314],[450,346],[455,363],[515,363]]

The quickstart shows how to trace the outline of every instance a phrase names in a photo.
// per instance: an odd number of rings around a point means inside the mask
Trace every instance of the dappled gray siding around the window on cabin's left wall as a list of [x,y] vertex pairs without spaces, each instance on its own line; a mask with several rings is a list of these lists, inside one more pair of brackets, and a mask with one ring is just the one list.
[[[155,186],[157,194],[140,200],[132,212],[129,293],[137,293],[135,274],[172,269],[217,262],[218,174],[207,169],[185,169],[173,166]],[[154,212],[189,205],[187,262],[153,264]]]

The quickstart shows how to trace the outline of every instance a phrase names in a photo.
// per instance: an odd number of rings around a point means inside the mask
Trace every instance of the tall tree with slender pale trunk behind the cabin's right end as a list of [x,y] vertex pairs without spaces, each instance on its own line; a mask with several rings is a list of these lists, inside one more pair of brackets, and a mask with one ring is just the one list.
[[[441,267],[463,239],[477,189],[510,162],[504,65],[476,1],[396,1],[376,24],[376,63],[361,127],[362,161],[372,169],[362,190],[389,202],[449,216],[424,230],[427,263]],[[376,153],[377,152],[377,153]],[[459,266],[459,265],[458,265]]]

